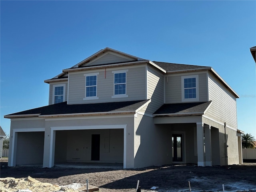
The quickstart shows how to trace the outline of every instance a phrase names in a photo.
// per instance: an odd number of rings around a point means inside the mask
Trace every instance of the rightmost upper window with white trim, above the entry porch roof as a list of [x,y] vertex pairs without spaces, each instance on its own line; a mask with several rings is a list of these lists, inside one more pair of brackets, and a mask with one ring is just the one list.
[[199,100],[198,75],[182,76],[182,102]]

